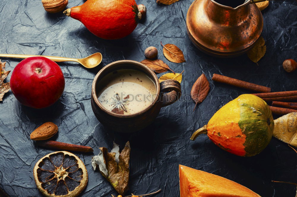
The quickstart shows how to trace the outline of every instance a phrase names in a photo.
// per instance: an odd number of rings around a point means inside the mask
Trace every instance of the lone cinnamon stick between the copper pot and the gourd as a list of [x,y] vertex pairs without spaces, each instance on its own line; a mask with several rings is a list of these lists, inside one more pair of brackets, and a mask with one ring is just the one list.
[[241,81],[238,79],[233,79],[231,77],[226,77],[220,74],[214,74],[213,77],[211,78],[211,80],[216,81],[216,82],[220,82],[220,83],[225,83],[228,85],[233,85],[236,86],[238,88],[245,88],[247,90],[252,90],[252,91],[256,91],[256,92],[270,92],[271,89],[262,85],[257,85],[254,83],[249,83],[246,81]]

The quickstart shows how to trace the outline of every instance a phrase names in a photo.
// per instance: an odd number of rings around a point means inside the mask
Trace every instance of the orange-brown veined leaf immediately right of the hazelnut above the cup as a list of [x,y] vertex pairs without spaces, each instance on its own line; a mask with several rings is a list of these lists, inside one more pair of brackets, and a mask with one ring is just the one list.
[[[162,45],[162,42],[161,42]],[[171,62],[181,63],[185,62],[184,53],[173,44],[162,45],[164,56]]]

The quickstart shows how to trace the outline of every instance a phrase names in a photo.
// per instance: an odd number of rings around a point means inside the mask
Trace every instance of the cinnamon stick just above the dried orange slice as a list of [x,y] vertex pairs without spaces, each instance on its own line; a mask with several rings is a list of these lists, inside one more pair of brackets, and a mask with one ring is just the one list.
[[69,151],[75,151],[75,152],[93,152],[93,149],[89,146],[67,144],[64,142],[56,142],[52,140],[39,141],[37,142],[37,145],[45,148],[53,148],[58,150],[69,150]]

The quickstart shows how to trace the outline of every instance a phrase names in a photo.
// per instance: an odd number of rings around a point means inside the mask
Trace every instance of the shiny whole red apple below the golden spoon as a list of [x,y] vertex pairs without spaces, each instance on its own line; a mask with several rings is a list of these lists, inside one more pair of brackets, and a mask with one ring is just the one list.
[[10,88],[21,104],[36,109],[54,104],[65,87],[64,75],[54,61],[26,58],[13,69]]

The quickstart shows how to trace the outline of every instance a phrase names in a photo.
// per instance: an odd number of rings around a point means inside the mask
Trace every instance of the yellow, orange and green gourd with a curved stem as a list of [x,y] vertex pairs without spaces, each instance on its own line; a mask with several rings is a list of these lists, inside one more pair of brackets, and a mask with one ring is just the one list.
[[274,128],[266,102],[252,94],[243,94],[219,109],[208,124],[192,135],[204,133],[217,146],[239,156],[259,154],[270,142]]

